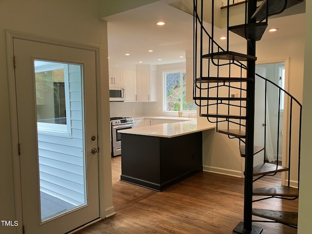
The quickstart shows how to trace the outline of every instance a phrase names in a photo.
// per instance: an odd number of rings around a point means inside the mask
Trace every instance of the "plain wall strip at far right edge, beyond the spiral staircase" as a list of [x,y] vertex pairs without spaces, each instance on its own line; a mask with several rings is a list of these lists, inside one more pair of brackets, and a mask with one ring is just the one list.
[[312,1],[306,1],[305,58],[303,80],[303,118],[301,140],[301,167],[299,182],[298,234],[311,233],[311,133],[312,133]]

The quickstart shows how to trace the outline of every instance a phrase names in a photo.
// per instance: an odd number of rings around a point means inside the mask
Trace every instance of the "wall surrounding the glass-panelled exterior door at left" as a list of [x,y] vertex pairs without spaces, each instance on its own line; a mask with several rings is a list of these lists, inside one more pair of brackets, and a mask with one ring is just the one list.
[[[67,40],[83,44],[101,47],[101,78],[108,79],[107,69],[107,24],[98,20],[98,1],[86,0],[1,0],[0,1],[0,220],[18,220],[22,223],[19,213],[19,201],[15,199],[12,159],[12,148],[17,147],[11,141],[11,119],[10,102],[8,92],[8,72],[6,67],[6,44],[5,30],[13,30],[36,36]],[[108,84],[105,83],[99,90],[103,90],[102,105],[103,120],[109,122]],[[103,159],[105,173],[101,174],[101,185],[108,184],[102,194],[107,198],[101,202],[101,210],[112,212],[111,191],[111,164],[110,164],[110,142],[109,124],[103,125],[105,139],[103,140]],[[5,178],[5,179],[3,179]],[[4,192],[3,192],[4,191]],[[108,214],[102,214],[108,215]],[[0,233],[13,234],[21,226],[2,227]]]

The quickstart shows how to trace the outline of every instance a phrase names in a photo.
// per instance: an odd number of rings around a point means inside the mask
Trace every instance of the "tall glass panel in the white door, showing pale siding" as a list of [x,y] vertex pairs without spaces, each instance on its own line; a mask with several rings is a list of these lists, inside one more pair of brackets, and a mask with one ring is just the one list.
[[41,222],[87,204],[82,65],[34,60]]

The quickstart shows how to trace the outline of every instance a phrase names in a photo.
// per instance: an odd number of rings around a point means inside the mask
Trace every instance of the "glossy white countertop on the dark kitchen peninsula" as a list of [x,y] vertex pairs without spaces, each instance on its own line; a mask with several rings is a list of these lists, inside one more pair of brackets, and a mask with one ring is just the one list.
[[183,121],[178,123],[163,123],[140,128],[120,130],[119,133],[143,135],[151,137],[178,137],[191,133],[215,129],[214,125],[197,125],[196,120]]

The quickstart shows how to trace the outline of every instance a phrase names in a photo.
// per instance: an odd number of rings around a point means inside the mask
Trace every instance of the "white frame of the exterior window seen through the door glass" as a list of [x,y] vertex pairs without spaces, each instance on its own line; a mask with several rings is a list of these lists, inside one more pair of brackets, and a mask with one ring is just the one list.
[[[43,123],[43,122],[37,121],[38,134],[46,134],[46,135],[70,138],[72,137],[72,130],[71,130],[71,117],[70,117],[71,113],[70,113],[70,99],[69,99],[68,64],[55,62],[55,61],[41,60],[41,59],[34,59],[34,64],[35,64],[35,61],[53,62],[54,64],[46,64],[46,65],[40,65],[40,66],[34,65],[34,77],[35,77],[35,74],[38,72],[47,72],[47,71],[64,69],[65,106],[66,106],[66,124]],[[35,88],[35,92],[36,92],[36,88]],[[36,113],[37,113],[37,105],[36,105]],[[36,115],[36,118],[37,118],[37,115]]]

